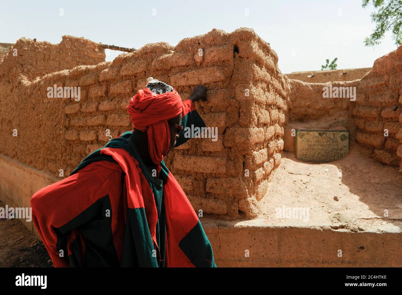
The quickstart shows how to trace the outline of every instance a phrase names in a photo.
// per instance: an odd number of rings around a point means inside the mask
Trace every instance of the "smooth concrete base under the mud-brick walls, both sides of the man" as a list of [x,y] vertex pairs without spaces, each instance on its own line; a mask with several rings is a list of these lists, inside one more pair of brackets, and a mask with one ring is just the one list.
[[[57,180],[0,155],[0,200],[9,207],[29,207],[35,192]],[[32,222],[21,221],[37,236]],[[218,267],[402,266],[399,227],[382,228],[378,224],[376,231],[351,232],[329,225],[289,227],[261,219],[225,221],[208,217],[201,218],[201,223]],[[338,257],[339,250],[342,257]]]

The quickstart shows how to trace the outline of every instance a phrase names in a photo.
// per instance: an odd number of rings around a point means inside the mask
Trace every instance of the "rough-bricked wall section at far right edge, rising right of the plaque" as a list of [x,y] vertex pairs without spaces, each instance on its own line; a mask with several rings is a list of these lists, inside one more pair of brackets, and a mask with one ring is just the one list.
[[[356,139],[374,159],[400,165],[402,157],[402,46],[380,57],[357,89],[352,117]],[[384,136],[388,129],[388,137]],[[401,169],[402,172],[402,169]]]

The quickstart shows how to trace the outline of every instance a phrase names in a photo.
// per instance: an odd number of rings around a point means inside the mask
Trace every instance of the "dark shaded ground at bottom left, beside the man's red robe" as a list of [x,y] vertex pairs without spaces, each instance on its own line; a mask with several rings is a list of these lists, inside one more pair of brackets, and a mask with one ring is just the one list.
[[[0,201],[0,207],[5,205]],[[52,267],[42,242],[18,219],[0,219],[0,267]]]

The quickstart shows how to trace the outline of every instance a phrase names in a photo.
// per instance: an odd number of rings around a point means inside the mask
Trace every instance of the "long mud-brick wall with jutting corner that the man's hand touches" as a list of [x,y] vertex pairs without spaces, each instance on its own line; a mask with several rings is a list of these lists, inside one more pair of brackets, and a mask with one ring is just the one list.
[[[231,34],[214,29],[176,47],[148,44],[113,62],[35,80],[21,75],[35,68],[18,68],[20,74],[10,77],[8,68],[0,67],[0,135],[6,138],[0,152],[53,176],[63,169],[66,177],[105,145],[107,130],[116,137],[132,129],[125,106],[146,78],[171,84],[183,100],[195,86],[205,85],[208,102],[196,102],[196,107],[207,126],[218,127],[218,140],[192,139],[166,164],[196,211],[252,217],[283,148],[289,83],[277,60],[251,29]],[[80,100],[48,98],[47,88],[54,84],[80,87]],[[18,136],[12,136],[14,129]]]

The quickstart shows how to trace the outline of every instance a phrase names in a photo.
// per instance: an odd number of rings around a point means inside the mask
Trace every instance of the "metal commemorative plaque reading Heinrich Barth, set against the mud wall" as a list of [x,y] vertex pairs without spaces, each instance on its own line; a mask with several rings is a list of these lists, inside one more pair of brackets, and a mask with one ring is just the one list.
[[349,153],[348,130],[296,129],[296,158],[304,162],[326,163]]

